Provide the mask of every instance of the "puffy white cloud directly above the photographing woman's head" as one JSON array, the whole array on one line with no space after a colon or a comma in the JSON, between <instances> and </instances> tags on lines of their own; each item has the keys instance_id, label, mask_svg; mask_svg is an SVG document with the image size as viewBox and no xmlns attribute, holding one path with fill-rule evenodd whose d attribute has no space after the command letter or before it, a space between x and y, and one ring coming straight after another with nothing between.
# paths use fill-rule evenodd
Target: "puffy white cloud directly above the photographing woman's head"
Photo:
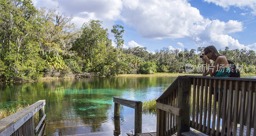
<instances>
[{"instance_id":1,"label":"puffy white cloud directly above the photographing woman's head","mask_svg":"<svg viewBox=\"0 0 256 136\"><path fill-rule=\"evenodd\" d=\"M220 20L205 19L195 24L191 29L189 39L197 45L215 45L217 48L223 49L228 46L230 49L242 49L245 46L240 44L237 39L228 36L230 33L240 32L243 30L242 22L237 20L229 20L223 22Z\"/></svg>"}]
</instances>

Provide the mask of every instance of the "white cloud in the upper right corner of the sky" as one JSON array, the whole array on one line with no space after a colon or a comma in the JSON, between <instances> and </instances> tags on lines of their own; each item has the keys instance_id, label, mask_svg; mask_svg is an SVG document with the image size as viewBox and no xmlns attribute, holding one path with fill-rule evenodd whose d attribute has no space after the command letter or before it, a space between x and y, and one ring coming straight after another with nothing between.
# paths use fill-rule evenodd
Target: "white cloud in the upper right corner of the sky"
<instances>
[{"instance_id":1,"label":"white cloud in the upper right corner of the sky","mask_svg":"<svg viewBox=\"0 0 256 136\"><path fill-rule=\"evenodd\" d=\"M218 6L228 10L230 6L239 7L244 10L250 9L253 15L256 15L256 1L255 0L204 0L208 3L214 3Z\"/></svg>"}]
</instances>

